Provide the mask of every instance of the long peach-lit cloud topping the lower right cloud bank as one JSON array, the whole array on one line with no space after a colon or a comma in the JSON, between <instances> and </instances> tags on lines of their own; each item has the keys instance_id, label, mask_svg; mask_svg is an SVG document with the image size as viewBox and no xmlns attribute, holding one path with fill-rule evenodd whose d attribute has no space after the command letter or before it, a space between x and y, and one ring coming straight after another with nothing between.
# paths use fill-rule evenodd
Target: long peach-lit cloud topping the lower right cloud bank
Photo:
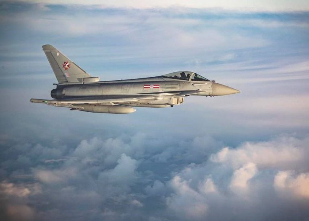
<instances>
[{"instance_id":1,"label":"long peach-lit cloud topping the lower right cloud bank","mask_svg":"<svg viewBox=\"0 0 309 221\"><path fill-rule=\"evenodd\" d=\"M213 162L231 165L233 168L253 163L258 168L301 169L308 154L307 139L281 136L267 142L246 142L238 148L226 147L213 154L210 159Z\"/></svg>"}]
</instances>

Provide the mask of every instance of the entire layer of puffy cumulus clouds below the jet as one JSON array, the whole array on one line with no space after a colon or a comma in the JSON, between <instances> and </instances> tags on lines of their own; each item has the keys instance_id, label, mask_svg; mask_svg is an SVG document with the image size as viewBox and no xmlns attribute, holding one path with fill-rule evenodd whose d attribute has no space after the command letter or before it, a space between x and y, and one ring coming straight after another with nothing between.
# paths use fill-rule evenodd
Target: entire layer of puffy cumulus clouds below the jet
<instances>
[{"instance_id":1,"label":"entire layer of puffy cumulus clouds below the jet","mask_svg":"<svg viewBox=\"0 0 309 221\"><path fill-rule=\"evenodd\" d=\"M9 220L304 219L308 139L233 148L209 136L168 143L137 133L60 152L15 144L1 163L1 211Z\"/></svg>"}]
</instances>

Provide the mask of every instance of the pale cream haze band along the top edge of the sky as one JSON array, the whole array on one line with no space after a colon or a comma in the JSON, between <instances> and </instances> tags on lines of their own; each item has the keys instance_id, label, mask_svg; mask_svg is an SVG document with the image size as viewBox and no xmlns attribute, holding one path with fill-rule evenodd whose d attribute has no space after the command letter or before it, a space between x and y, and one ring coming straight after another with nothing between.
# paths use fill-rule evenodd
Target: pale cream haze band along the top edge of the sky
<instances>
[{"instance_id":1,"label":"pale cream haze band along the top edge of the sky","mask_svg":"<svg viewBox=\"0 0 309 221\"><path fill-rule=\"evenodd\" d=\"M29 3L45 3L45 4L59 4L63 5L63 1L59 0L21 0L20 2ZM306 0L295 0L291 4L288 0L276 0L276 1L246 1L246 0L234 0L234 1L202 1L202 0L173 0L173 1L138 1L138 0L114 0L114 1L99 1L99 0L68 0L65 4L80 4L80 5L95 5L102 8L168 8L168 7L186 7L186 8L208 8L208 9L224 9L224 10L246 10L246 11L304 11L309 9L308 2Z\"/></svg>"}]
</instances>

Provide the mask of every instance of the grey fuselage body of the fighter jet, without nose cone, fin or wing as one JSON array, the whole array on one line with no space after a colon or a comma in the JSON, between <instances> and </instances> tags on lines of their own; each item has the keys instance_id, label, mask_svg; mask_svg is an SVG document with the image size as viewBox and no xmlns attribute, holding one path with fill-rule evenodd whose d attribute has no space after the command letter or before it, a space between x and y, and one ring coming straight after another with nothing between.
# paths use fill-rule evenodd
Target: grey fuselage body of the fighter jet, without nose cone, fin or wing
<instances>
[{"instance_id":1,"label":"grey fuselage body of the fighter jet, without nose cone, fin or wing","mask_svg":"<svg viewBox=\"0 0 309 221\"><path fill-rule=\"evenodd\" d=\"M57 88L51 91L52 98L94 98L96 96L111 95L155 95L162 99L153 101L126 102L130 106L142 106L143 104L159 104L164 106L177 105L183 102L183 98L174 98L182 91L201 90L202 93L196 95L218 96L213 94L212 85L214 81L188 81L171 79L163 76L147 77L117 81L97 81L92 83L71 83L57 84ZM145 88L144 85L159 85L159 88ZM154 106L155 107L155 106ZM159 107L159 106L158 106Z\"/></svg>"}]
</instances>

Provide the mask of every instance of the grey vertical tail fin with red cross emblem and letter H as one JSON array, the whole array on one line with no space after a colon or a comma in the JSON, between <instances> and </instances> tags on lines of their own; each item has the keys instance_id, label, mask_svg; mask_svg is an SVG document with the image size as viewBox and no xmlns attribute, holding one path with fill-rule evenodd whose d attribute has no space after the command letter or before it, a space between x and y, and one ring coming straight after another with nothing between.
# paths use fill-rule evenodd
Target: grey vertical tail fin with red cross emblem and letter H
<instances>
[{"instance_id":1,"label":"grey vertical tail fin with red cross emblem and letter H","mask_svg":"<svg viewBox=\"0 0 309 221\"><path fill-rule=\"evenodd\" d=\"M78 82L78 78L91 77L52 45L45 44L42 48L59 83Z\"/></svg>"}]
</instances>

